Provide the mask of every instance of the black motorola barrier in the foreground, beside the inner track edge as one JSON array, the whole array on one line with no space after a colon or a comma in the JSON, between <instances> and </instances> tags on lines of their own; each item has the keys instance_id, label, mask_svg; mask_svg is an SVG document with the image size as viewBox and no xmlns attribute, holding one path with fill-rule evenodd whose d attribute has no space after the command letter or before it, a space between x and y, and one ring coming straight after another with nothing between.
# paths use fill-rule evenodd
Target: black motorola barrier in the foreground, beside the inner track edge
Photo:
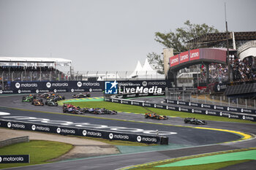
<instances>
[{"instance_id":1,"label":"black motorola barrier in the foreground, beside the inner track edge","mask_svg":"<svg viewBox=\"0 0 256 170\"><path fill-rule=\"evenodd\" d=\"M59 125L45 125L39 123L26 123L22 121L0 120L0 127L20 129L25 131L40 131L51 134L87 136L109 140L140 142L146 144L168 144L166 136L150 136L141 134L125 134L113 131L98 131L90 128L73 128Z\"/></svg>"}]
</instances>

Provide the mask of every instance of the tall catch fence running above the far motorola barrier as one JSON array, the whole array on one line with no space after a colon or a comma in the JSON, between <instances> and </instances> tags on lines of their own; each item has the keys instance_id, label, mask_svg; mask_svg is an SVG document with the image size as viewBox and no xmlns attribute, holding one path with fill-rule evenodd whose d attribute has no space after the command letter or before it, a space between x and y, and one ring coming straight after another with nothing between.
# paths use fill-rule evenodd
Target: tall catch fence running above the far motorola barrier
<instances>
[{"instance_id":1,"label":"tall catch fence running above the far motorola barrier","mask_svg":"<svg viewBox=\"0 0 256 170\"><path fill-rule=\"evenodd\" d=\"M154 72L14 72L0 71L0 90L8 89L14 81L111 81L111 80L165 80L164 74ZM131 74L133 76L131 76Z\"/></svg>"}]
</instances>

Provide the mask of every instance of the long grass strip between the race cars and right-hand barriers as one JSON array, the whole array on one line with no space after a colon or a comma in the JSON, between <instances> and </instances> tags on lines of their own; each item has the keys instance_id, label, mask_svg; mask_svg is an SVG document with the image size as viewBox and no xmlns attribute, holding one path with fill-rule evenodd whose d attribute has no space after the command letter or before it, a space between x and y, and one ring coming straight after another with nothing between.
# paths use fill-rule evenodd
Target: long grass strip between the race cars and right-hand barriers
<instances>
[{"instance_id":1,"label":"long grass strip between the race cars and right-hand barriers","mask_svg":"<svg viewBox=\"0 0 256 170\"><path fill-rule=\"evenodd\" d=\"M193 114L189 112L177 112L166 109L157 109L151 107L138 107L132 106L128 104L116 104L107 101L86 101L86 102L70 102L69 104L73 104L79 107L105 107L106 109L113 109L118 112L135 112L135 113L146 113L147 109L150 109L152 112L156 112L159 115L167 115L174 117L195 117L197 119L203 120L214 120L214 121L223 121L223 122L235 122L235 123L255 123L249 120L237 120L237 119L229 119L227 117L219 117L219 116L211 116L211 115L200 115ZM145 109L146 108L146 109ZM256 124L256 123L255 123Z\"/></svg>"}]
</instances>

